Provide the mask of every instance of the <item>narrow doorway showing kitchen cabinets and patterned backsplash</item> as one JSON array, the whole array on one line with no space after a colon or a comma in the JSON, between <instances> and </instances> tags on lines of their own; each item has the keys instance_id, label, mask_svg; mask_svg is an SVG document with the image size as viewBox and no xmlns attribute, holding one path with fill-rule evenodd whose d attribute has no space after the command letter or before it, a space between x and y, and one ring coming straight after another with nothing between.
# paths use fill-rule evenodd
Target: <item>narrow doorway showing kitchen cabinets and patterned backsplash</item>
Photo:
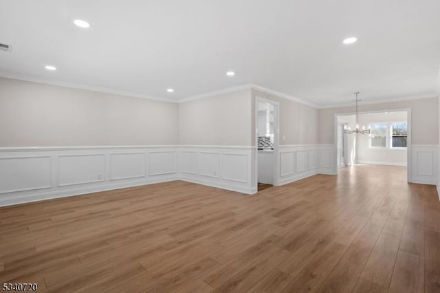
<instances>
[{"instance_id":1,"label":"narrow doorway showing kitchen cabinets and patterned backsplash","mask_svg":"<svg viewBox=\"0 0 440 293\"><path fill-rule=\"evenodd\" d=\"M258 190L278 185L278 102L256 98L256 174Z\"/></svg>"}]
</instances>

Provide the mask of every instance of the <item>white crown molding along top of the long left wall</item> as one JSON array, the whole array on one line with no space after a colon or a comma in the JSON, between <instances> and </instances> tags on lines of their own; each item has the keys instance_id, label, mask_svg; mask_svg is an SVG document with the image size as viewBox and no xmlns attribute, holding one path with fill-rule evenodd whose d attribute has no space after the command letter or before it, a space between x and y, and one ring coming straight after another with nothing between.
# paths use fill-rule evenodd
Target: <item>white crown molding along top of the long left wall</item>
<instances>
[{"instance_id":1,"label":"white crown molding along top of the long left wall","mask_svg":"<svg viewBox=\"0 0 440 293\"><path fill-rule=\"evenodd\" d=\"M71 89L84 89L87 91L96 91L96 92L105 93L105 94L126 96L129 98L143 98L146 100L155 100L155 101L159 101L159 102L177 102L177 100L172 100L169 98L159 98L159 97L148 96L148 95L144 95L144 94L136 94L136 93L133 93L130 91L120 91L120 90L116 90L116 89L109 89L106 87L92 87L89 85L80 85L77 83L68 83L65 81L51 80L49 78L36 78L36 77L25 76L25 75L21 75L21 74L11 74L9 72L0 72L0 77L30 81L32 83L43 83L45 85L55 85L58 87L68 87Z\"/></svg>"}]
</instances>

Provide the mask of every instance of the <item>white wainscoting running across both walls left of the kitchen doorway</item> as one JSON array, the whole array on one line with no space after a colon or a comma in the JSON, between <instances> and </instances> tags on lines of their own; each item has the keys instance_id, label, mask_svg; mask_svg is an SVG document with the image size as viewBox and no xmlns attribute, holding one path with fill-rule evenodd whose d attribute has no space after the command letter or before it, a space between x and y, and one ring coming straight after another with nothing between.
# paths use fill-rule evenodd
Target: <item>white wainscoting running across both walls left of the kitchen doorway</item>
<instances>
[{"instance_id":1,"label":"white wainscoting running across both walls left of the kitchen doorway","mask_svg":"<svg viewBox=\"0 0 440 293\"><path fill-rule=\"evenodd\" d=\"M0 206L173 180L252 194L255 150L188 145L1 148Z\"/></svg>"}]
</instances>

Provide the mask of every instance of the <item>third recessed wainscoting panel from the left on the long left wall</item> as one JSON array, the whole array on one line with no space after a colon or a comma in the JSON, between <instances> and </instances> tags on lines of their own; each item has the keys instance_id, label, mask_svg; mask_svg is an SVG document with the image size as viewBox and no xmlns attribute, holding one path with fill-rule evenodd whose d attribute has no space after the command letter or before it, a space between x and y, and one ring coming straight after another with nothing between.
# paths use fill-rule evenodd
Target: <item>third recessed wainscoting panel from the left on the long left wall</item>
<instances>
[{"instance_id":1,"label":"third recessed wainscoting panel from the left on the long left wall","mask_svg":"<svg viewBox=\"0 0 440 293\"><path fill-rule=\"evenodd\" d=\"M111 153L110 180L145 177L145 153Z\"/></svg>"}]
</instances>

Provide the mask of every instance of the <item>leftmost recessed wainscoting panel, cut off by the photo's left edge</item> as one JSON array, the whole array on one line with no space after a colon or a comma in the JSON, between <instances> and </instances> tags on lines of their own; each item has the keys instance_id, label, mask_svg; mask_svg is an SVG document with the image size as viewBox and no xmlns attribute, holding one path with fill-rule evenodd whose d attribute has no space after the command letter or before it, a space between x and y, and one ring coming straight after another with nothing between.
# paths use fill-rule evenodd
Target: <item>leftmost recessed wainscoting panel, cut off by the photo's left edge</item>
<instances>
[{"instance_id":1,"label":"leftmost recessed wainscoting panel, cut off by the photo's left edge","mask_svg":"<svg viewBox=\"0 0 440 293\"><path fill-rule=\"evenodd\" d=\"M51 186L50 156L0 158L0 193L33 191Z\"/></svg>"}]
</instances>

